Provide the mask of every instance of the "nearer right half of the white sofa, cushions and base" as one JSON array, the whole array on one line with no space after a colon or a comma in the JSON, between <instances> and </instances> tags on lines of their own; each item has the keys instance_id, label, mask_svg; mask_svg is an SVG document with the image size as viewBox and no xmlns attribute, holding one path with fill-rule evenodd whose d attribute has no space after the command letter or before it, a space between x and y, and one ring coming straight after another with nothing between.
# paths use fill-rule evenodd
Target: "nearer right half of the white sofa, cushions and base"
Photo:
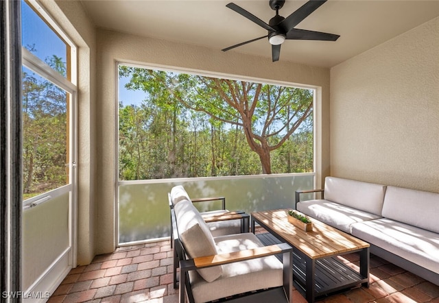
<instances>
[{"instance_id":1,"label":"nearer right half of the white sofa, cushions and base","mask_svg":"<svg viewBox=\"0 0 439 303\"><path fill-rule=\"evenodd\" d=\"M371 252L439 285L439 193L388 186L383 219L356 223L352 234Z\"/></svg>"}]
</instances>

